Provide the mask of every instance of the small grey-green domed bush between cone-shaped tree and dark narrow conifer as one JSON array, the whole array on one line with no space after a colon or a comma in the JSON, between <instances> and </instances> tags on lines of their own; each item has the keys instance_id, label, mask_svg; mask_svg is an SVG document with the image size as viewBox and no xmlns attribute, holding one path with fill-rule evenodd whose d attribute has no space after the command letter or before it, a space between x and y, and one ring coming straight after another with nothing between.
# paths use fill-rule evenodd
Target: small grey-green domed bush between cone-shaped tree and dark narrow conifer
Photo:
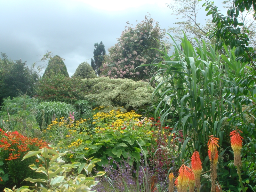
<instances>
[{"instance_id":1,"label":"small grey-green domed bush between cone-shaped tree and dark narrow conifer","mask_svg":"<svg viewBox=\"0 0 256 192\"><path fill-rule=\"evenodd\" d=\"M76 68L75 73L72 75L73 77L80 77L82 79L89 79L89 78L95 78L97 77L95 74L94 69L90 66L87 62L82 62L78 67Z\"/></svg>"}]
</instances>

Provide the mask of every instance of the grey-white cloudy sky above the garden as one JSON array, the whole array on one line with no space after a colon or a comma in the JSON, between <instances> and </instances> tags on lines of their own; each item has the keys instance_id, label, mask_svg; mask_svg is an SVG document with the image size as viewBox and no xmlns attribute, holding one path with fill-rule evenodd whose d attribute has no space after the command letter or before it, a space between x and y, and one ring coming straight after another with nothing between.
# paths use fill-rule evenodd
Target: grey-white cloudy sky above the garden
<instances>
[{"instance_id":1,"label":"grey-white cloudy sky above the garden","mask_svg":"<svg viewBox=\"0 0 256 192\"><path fill-rule=\"evenodd\" d=\"M0 52L31 66L51 51L71 76L91 62L94 43L106 51L116 44L127 21L135 26L149 12L161 28L171 27L175 16L166 3L172 0L0 0Z\"/></svg>"}]
</instances>

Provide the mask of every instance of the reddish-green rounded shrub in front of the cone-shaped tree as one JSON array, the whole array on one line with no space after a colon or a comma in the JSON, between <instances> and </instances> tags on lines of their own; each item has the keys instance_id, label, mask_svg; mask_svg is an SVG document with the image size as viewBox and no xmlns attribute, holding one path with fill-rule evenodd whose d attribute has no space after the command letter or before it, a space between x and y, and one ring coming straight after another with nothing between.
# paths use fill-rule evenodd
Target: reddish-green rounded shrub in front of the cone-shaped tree
<instances>
[{"instance_id":1,"label":"reddish-green rounded shrub in front of the cone-shaped tree","mask_svg":"<svg viewBox=\"0 0 256 192\"><path fill-rule=\"evenodd\" d=\"M75 103L79 97L83 99L86 90L86 84L81 82L80 78L57 74L51 77L45 76L40 80L37 97L41 100Z\"/></svg>"}]
</instances>

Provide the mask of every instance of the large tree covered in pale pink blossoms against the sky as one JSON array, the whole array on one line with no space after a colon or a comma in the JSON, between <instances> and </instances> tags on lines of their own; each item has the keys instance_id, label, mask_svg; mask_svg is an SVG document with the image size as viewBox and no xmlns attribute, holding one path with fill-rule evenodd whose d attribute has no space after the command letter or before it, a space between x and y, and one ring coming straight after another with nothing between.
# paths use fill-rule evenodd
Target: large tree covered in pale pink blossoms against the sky
<instances>
[{"instance_id":1,"label":"large tree covered in pale pink blossoms against the sky","mask_svg":"<svg viewBox=\"0 0 256 192\"><path fill-rule=\"evenodd\" d=\"M129 22L125 28L118 38L118 43L108 49L109 53L100 69L101 76L148 81L152 67L137 68L135 71L134 69L154 60L159 62L159 52L151 48L161 49L163 45L167 49L170 48L170 44L164 39L165 30L160 29L158 22L149 16L145 16L145 20L135 28L132 28Z\"/></svg>"}]
</instances>

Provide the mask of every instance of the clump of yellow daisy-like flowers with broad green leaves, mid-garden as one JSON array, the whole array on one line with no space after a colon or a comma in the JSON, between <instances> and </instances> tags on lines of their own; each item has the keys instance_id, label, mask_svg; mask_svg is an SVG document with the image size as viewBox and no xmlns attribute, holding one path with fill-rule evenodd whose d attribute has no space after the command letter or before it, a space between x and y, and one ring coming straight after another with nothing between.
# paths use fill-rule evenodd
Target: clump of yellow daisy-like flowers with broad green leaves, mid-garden
<instances>
[{"instance_id":1,"label":"clump of yellow daisy-like flowers with broad green leaves, mid-garden","mask_svg":"<svg viewBox=\"0 0 256 192\"><path fill-rule=\"evenodd\" d=\"M93 119L80 119L71 124L64 118L61 122L53 121L45 129L44 137L53 143L61 140L63 149L65 146L65 150L73 151L69 154L71 161L94 156L101 159L97 164L103 167L108 163L108 157L117 162L129 158L132 165L134 160L140 159L137 141L145 152L148 151L153 130L151 120L145 118L140 121L140 115L134 111L103 113L103 108L94 109L99 112L93 115Z\"/></svg>"}]
</instances>

